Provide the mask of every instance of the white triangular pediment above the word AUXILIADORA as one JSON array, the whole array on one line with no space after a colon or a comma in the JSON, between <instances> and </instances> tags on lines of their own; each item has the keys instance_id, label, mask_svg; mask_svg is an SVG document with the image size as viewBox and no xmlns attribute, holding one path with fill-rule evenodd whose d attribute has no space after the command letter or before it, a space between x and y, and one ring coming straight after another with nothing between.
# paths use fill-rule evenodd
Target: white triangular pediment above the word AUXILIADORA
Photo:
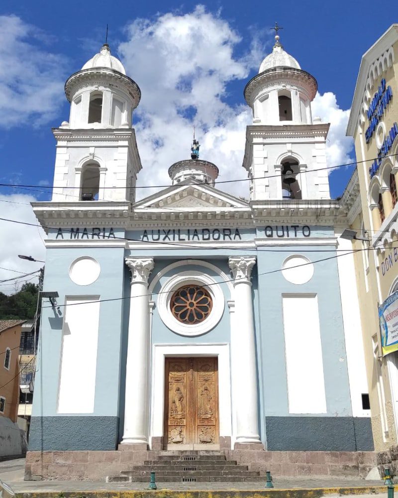
<instances>
[{"instance_id":1,"label":"white triangular pediment above the word AUXILIADORA","mask_svg":"<svg viewBox=\"0 0 398 498\"><path fill-rule=\"evenodd\" d=\"M191 183L168 187L137 202L134 209L247 209L249 202L213 187Z\"/></svg>"}]
</instances>

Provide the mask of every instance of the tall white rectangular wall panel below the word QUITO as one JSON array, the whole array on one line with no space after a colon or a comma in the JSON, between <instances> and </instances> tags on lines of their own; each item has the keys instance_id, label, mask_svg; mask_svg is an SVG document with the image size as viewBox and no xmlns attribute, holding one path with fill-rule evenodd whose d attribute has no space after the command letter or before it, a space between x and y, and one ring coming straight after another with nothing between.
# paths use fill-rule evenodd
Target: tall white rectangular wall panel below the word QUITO
<instances>
[{"instance_id":1,"label":"tall white rectangular wall panel below the word QUITO","mask_svg":"<svg viewBox=\"0 0 398 498\"><path fill-rule=\"evenodd\" d=\"M326 413L316 295L283 296L289 413Z\"/></svg>"}]
</instances>

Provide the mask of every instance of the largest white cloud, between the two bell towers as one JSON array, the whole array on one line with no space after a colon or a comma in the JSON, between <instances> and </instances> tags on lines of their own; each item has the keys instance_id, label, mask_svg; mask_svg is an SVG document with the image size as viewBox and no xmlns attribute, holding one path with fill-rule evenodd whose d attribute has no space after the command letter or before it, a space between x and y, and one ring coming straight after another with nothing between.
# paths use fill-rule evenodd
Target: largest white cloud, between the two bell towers
<instances>
[{"instance_id":1,"label":"largest white cloud, between the two bell towers","mask_svg":"<svg viewBox=\"0 0 398 498\"><path fill-rule=\"evenodd\" d=\"M200 158L214 162L219 181L246 178L241 167L245 128L251 111L229 105L227 84L248 79L261 60L259 43L242 57L234 54L241 37L218 15L197 6L193 12L138 19L121 43L127 74L142 89L135 124L143 170L138 185L170 185L167 170L190 157L193 125L201 144ZM243 98L242 98L243 100ZM237 195L249 195L248 182L220 184ZM138 190L137 198L148 195Z\"/></svg>"}]
</instances>

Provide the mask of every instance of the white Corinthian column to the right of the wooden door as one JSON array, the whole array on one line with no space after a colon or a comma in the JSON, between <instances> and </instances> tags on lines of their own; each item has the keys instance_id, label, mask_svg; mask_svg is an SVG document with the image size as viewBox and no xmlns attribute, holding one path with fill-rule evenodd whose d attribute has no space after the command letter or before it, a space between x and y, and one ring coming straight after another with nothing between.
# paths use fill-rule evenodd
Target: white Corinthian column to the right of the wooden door
<instances>
[{"instance_id":1,"label":"white Corinthian column to the right of the wooden door","mask_svg":"<svg viewBox=\"0 0 398 498\"><path fill-rule=\"evenodd\" d=\"M236 416L236 443L260 443L257 410L257 372L254 340L251 272L254 256L228 259L235 293L231 327L232 383Z\"/></svg>"}]
</instances>

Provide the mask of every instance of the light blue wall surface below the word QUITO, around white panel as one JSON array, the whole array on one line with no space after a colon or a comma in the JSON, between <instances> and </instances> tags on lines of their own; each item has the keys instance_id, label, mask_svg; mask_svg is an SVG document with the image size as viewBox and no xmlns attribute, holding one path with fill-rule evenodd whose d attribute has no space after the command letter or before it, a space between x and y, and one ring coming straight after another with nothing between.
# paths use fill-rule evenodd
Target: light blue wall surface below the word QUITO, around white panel
<instances>
[{"instance_id":1,"label":"light blue wall surface below the word QUITO, around white panel","mask_svg":"<svg viewBox=\"0 0 398 498\"><path fill-rule=\"evenodd\" d=\"M289 413L283 330L282 294L315 293L318 298L320 335L323 354L327 413L316 416L349 416L352 414L345 352L339 277L334 246L284 247L286 252L262 248L257 254L258 288L261 296L259 314L261 333L257 332L262 358L264 383L261 400L263 416L295 416ZM282 248L279 248L282 249ZM315 251L315 252L311 252ZM314 261L314 274L309 282L295 285L281 271L264 274L282 267L290 254L302 254ZM318 261L325 258L324 261ZM344 361L340 361L343 358ZM316 396L316 393L314 393ZM311 416L311 414L308 414Z\"/></svg>"}]
</instances>

